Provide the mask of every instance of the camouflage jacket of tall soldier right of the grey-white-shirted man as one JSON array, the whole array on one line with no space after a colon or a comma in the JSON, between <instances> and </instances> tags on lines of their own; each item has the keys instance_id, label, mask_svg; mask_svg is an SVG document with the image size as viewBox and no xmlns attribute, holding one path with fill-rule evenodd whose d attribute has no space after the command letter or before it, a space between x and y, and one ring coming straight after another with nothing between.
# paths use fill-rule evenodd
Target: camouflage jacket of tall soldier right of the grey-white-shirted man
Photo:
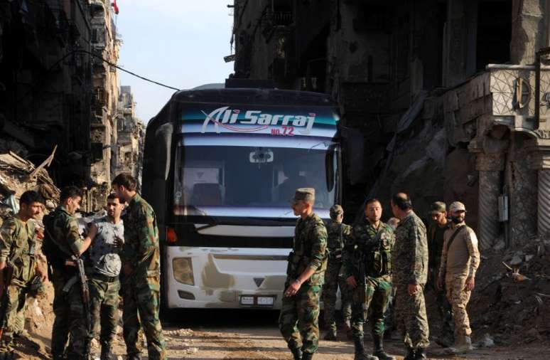
<instances>
[{"instance_id":1,"label":"camouflage jacket of tall soldier right of the grey-white-shirted man","mask_svg":"<svg viewBox=\"0 0 550 360\"><path fill-rule=\"evenodd\" d=\"M120 253L122 265L129 264L141 277L161 273L161 250L155 211L139 194L130 201L124 221L124 246Z\"/></svg>"}]
</instances>

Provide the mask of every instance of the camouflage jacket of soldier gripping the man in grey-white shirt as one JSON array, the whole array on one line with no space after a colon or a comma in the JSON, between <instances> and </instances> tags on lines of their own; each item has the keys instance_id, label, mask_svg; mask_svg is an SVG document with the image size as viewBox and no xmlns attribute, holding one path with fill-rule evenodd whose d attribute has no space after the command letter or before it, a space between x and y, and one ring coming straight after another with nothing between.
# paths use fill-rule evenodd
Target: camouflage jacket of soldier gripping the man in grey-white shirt
<instances>
[{"instance_id":1,"label":"camouflage jacket of soldier gripping the man in grey-white shirt","mask_svg":"<svg viewBox=\"0 0 550 360\"><path fill-rule=\"evenodd\" d=\"M83 246L82 236L74 216L64 206L58 206L43 218L44 240L42 250L48 263L54 267L65 265L65 260L77 255ZM61 250L61 251L60 251Z\"/></svg>"}]
</instances>

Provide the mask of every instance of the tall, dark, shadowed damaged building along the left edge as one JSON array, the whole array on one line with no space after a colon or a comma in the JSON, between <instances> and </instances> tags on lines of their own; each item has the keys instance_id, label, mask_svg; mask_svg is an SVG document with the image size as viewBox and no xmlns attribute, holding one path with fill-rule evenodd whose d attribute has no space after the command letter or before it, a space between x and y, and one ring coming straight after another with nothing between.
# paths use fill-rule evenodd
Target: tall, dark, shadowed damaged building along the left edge
<instances>
[{"instance_id":1,"label":"tall, dark, shadowed damaged building along the left edge","mask_svg":"<svg viewBox=\"0 0 550 360\"><path fill-rule=\"evenodd\" d=\"M0 152L58 186L109 183L117 144L120 40L108 0L0 3Z\"/></svg>"}]
</instances>

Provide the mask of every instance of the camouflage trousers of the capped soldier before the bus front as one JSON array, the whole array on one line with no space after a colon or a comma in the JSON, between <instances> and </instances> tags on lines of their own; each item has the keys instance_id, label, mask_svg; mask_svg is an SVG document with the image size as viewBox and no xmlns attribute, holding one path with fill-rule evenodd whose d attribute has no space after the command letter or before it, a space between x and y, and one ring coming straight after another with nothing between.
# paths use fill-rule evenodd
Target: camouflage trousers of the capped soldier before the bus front
<instances>
[{"instance_id":1,"label":"camouflage trousers of the capped soldier before the bus front","mask_svg":"<svg viewBox=\"0 0 550 360\"><path fill-rule=\"evenodd\" d=\"M296 295L283 297L279 329L289 349L313 354L319 346L320 286L303 284Z\"/></svg>"}]
</instances>

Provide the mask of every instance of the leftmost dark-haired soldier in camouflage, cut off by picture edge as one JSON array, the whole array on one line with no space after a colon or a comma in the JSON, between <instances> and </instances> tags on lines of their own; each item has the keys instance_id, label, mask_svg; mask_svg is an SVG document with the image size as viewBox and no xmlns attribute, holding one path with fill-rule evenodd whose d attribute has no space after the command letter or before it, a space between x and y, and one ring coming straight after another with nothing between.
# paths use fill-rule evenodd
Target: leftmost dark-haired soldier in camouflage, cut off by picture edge
<instances>
[{"instance_id":1,"label":"leftmost dark-haired soldier in camouflage, cut off by picture edge","mask_svg":"<svg viewBox=\"0 0 550 360\"><path fill-rule=\"evenodd\" d=\"M47 272L35 258L35 226L42 213L44 199L36 191L25 191L19 200L19 211L8 216L0 228L0 298L7 296L4 312L4 329L0 341L0 359L12 359L14 334L22 329L18 320L23 317L26 299L33 280L48 279ZM6 278L10 268L11 279ZM6 282L9 282L6 284ZM7 285L7 294L4 294Z\"/></svg>"}]
</instances>

